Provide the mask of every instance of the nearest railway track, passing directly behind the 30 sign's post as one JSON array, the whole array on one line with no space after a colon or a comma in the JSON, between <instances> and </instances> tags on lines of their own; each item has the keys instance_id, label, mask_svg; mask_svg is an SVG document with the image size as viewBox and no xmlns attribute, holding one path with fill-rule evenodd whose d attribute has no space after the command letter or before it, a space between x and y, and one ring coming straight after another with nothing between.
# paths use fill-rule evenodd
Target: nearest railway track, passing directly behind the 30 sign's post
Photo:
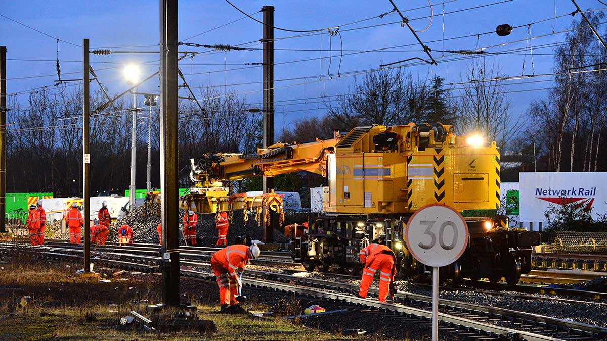
<instances>
[{"instance_id":1,"label":"nearest railway track, passing directly behind the 30 sign's post","mask_svg":"<svg viewBox=\"0 0 607 341\"><path fill-rule=\"evenodd\" d=\"M23 251L38 252L48 258L82 257L81 248L66 246L68 245L32 247L1 243L0 252L11 252L18 247ZM148 255L146 253L149 251L141 250L140 246L123 246L117 250L120 252L115 252L115 249L114 246L109 246L104 251L93 252L92 257L97 262L121 268L158 271L160 257L157 252L156 255ZM202 262L202 259L186 258L184 251L182 250L184 258L180 261L181 273L190 277L211 279L209 264ZM396 296L401 300L401 304L381 303L352 295L352 292L358 291L358 286L347 283L267 271L247 270L246 274L247 278L243 279L243 283L262 291L279 290L307 297L320 297L350 309L374 308L374 314L382 314L403 322L427 323L432 314L430 297L424 295L398 292ZM377 289L372 288L370 292L376 293ZM441 329L458 331L458 336L470 336L475 340L607 340L607 328L598 326L451 300L440 300L439 304L443 312L439 316Z\"/></svg>"}]
</instances>

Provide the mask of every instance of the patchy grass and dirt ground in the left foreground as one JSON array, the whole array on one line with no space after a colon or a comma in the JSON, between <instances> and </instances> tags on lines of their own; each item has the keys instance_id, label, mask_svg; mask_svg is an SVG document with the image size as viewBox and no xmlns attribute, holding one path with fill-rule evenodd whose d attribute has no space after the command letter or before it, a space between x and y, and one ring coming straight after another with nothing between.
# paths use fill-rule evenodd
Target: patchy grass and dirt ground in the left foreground
<instances>
[{"instance_id":1,"label":"patchy grass and dirt ground in the left foreground","mask_svg":"<svg viewBox=\"0 0 607 341\"><path fill-rule=\"evenodd\" d=\"M121 326L119 321L131 310L144 313L146 305L159 302L158 274L127 271L112 278L115 269L101 268L96 270L107 275L109 283L80 282L74 275L78 268L79 264L37 261L25 255L0 258L0 341L362 339L307 328L280 316L219 314L214 282L194 279L181 281L183 300L196 305L203 319L213 320L217 332L145 333L134 323ZM268 305L251 300L246 308L266 311Z\"/></svg>"}]
</instances>

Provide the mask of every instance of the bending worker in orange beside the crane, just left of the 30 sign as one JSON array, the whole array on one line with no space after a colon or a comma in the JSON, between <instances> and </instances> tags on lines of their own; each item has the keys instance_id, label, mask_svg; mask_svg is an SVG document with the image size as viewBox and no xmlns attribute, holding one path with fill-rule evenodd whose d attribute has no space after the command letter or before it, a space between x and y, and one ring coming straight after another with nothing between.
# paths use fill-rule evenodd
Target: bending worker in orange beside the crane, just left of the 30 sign
<instances>
[{"instance_id":1,"label":"bending worker in orange beside the crane, just left of the 30 sign","mask_svg":"<svg viewBox=\"0 0 607 341\"><path fill-rule=\"evenodd\" d=\"M359 257L365 267L362 270L361 288L358 295L363 299L367 298L373 276L379 270L379 302L385 302L396 275L396 255L388 246L370 244L361 250Z\"/></svg>"}]
</instances>

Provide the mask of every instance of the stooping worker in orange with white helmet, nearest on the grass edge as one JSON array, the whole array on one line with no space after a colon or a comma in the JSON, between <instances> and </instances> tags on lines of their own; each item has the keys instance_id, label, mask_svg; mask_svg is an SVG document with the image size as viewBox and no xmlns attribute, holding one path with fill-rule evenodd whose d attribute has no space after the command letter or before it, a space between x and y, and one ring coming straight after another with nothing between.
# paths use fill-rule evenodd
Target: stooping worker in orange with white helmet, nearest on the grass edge
<instances>
[{"instance_id":1,"label":"stooping worker in orange with white helmet, nearest on the grass edge","mask_svg":"<svg viewBox=\"0 0 607 341\"><path fill-rule=\"evenodd\" d=\"M256 244L251 246L237 244L215 252L211 258L211 268L217 277L222 312L238 311L239 302L236 300L236 296L239 294L242 283L240 283L237 271L243 272L249 260L259 257L259 254L259 246Z\"/></svg>"}]
</instances>

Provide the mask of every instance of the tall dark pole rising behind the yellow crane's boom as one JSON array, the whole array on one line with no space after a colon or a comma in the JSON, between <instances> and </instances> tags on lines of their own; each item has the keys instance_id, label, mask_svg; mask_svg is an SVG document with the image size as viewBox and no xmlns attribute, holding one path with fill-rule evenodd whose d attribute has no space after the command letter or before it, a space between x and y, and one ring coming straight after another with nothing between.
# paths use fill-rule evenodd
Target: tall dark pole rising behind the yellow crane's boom
<instances>
[{"instance_id":1,"label":"tall dark pole rising behind the yellow crane's boom","mask_svg":"<svg viewBox=\"0 0 607 341\"><path fill-rule=\"evenodd\" d=\"M274 144L274 6L263 6L263 147ZM274 178L263 177L263 193L274 192ZM270 208L266 208L270 209ZM276 215L263 225L263 242L274 241Z\"/></svg>"}]
</instances>

